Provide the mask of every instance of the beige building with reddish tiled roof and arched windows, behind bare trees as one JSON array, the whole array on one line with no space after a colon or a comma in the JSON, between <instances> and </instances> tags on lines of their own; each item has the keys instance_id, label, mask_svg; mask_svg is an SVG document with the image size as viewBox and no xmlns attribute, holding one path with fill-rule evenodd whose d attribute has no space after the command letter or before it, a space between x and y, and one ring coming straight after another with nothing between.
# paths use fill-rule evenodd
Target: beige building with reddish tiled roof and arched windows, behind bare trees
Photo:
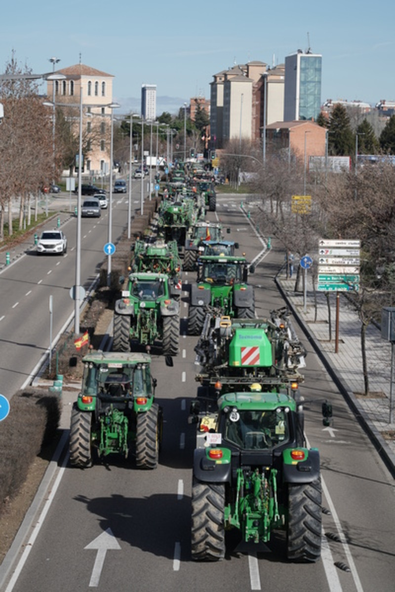
<instances>
[{"instance_id":1,"label":"beige building with reddish tiled roof and arched windows, behind bare trees","mask_svg":"<svg viewBox=\"0 0 395 592\"><path fill-rule=\"evenodd\" d=\"M79 104L82 92L82 144L84 175L104 176L110 172L110 117L113 102L111 74L76 64L56 70L65 79L47 81L47 96L57 106L64 105L66 120L79 135ZM56 144L56 139L55 139Z\"/></svg>"}]
</instances>

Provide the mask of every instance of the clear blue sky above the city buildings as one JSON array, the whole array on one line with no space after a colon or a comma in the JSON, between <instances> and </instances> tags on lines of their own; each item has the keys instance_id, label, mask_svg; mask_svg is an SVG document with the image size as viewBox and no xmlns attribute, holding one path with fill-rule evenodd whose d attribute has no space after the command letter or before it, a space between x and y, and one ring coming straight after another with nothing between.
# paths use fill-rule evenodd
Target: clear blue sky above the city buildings
<instances>
[{"instance_id":1,"label":"clear blue sky above the city buildings","mask_svg":"<svg viewBox=\"0 0 395 592\"><path fill-rule=\"evenodd\" d=\"M140 111L157 85L158 114L210 98L213 74L249 60L269 65L306 50L323 56L322 102L395 100L395 2L40 0L2 3L0 72L12 50L35 73L79 62L115 76L114 100Z\"/></svg>"}]
</instances>

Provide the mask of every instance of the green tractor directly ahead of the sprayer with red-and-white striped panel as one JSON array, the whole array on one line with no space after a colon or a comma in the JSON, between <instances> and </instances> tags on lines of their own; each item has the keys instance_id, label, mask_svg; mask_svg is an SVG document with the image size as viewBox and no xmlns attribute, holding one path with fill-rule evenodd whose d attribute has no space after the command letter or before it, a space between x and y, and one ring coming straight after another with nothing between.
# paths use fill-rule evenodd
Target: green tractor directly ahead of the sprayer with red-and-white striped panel
<instances>
[{"instance_id":1,"label":"green tractor directly ahead of the sprayer with red-and-white striped panel","mask_svg":"<svg viewBox=\"0 0 395 592\"><path fill-rule=\"evenodd\" d=\"M207 313L254 318L253 287L247 284L254 271L244 257L201 256L197 284L191 285L188 332L200 335Z\"/></svg>"}]
</instances>

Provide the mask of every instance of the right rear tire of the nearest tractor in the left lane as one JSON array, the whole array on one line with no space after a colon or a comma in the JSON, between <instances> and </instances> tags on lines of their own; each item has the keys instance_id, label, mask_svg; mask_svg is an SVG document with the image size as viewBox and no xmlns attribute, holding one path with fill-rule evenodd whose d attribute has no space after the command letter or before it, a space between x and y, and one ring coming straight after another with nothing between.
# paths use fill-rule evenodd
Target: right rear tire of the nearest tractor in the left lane
<instances>
[{"instance_id":1,"label":"right rear tire of the nearest tractor in the left lane","mask_svg":"<svg viewBox=\"0 0 395 592\"><path fill-rule=\"evenodd\" d=\"M148 411L137 414L136 465L140 469L156 469L162 436L162 414L153 403Z\"/></svg>"}]
</instances>

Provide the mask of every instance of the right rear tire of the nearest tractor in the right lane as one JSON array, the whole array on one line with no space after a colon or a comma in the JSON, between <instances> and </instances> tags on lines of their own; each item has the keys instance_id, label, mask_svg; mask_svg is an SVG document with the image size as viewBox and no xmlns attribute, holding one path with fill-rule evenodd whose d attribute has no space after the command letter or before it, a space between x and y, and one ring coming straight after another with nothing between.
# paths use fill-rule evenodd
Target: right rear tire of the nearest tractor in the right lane
<instances>
[{"instance_id":1,"label":"right rear tire of the nearest tractor in the right lane","mask_svg":"<svg viewBox=\"0 0 395 592\"><path fill-rule=\"evenodd\" d=\"M317 561L321 555L321 479L288 485L287 556L291 561Z\"/></svg>"}]
</instances>

